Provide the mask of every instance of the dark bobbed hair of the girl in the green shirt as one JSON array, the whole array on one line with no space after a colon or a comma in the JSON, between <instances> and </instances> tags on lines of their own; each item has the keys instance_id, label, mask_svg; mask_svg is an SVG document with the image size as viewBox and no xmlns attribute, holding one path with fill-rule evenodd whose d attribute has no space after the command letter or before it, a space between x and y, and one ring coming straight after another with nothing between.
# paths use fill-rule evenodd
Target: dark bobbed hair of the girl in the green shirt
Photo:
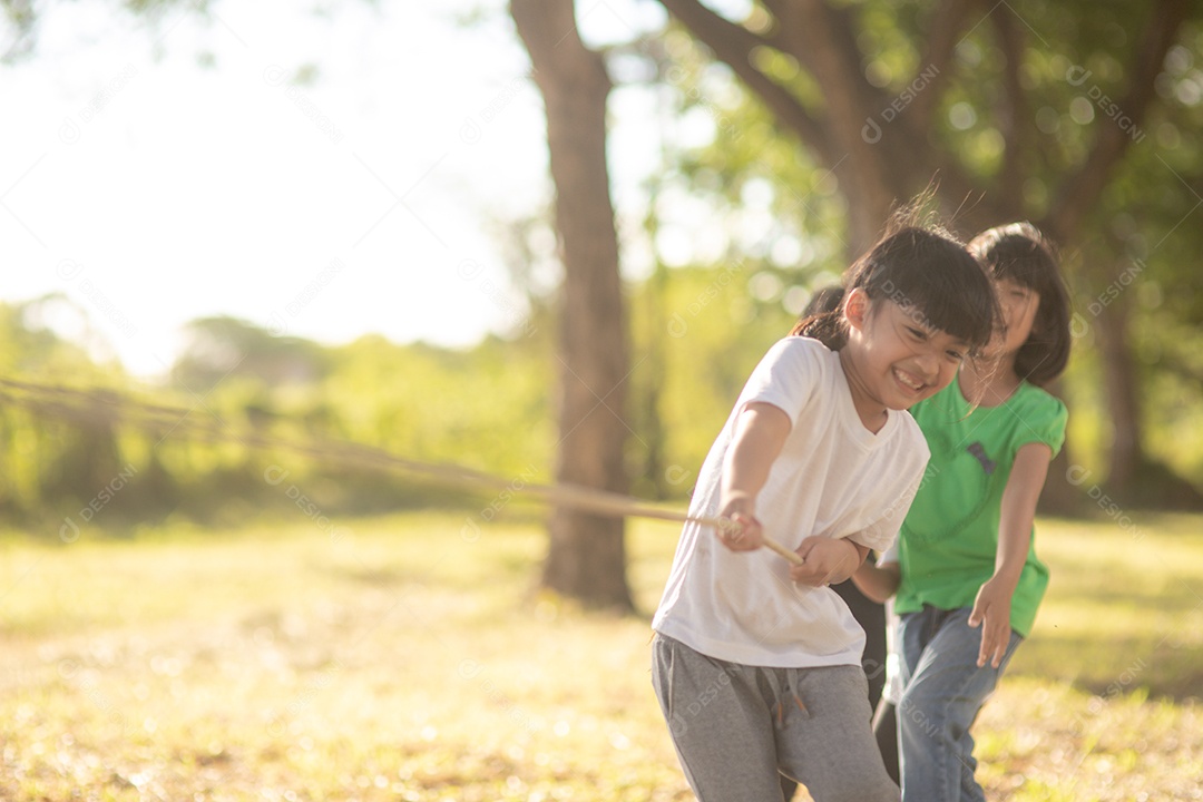
<instances>
[{"instance_id":1,"label":"dark bobbed hair of the girl in the green shirt","mask_svg":"<svg viewBox=\"0 0 1203 802\"><path fill-rule=\"evenodd\" d=\"M1053 244L1030 222L1012 222L983 231L970 242L970 253L995 279L1009 279L1039 296L1032 333L1015 354L1015 373L1033 385L1045 385L1069 362L1069 291Z\"/></svg>"}]
</instances>

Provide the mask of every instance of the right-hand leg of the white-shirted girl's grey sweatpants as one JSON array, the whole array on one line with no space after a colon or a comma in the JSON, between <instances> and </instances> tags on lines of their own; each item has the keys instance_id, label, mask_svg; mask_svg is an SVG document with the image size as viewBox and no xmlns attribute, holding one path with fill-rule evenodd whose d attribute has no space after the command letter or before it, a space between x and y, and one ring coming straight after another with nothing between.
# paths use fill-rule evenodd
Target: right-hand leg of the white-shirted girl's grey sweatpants
<instances>
[{"instance_id":1,"label":"right-hand leg of the white-shirted girl's grey sweatpants","mask_svg":"<svg viewBox=\"0 0 1203 802\"><path fill-rule=\"evenodd\" d=\"M783 772L801 780L816 802L897 802L870 727L860 666L765 671L778 672L782 685L776 735Z\"/></svg>"}]
</instances>

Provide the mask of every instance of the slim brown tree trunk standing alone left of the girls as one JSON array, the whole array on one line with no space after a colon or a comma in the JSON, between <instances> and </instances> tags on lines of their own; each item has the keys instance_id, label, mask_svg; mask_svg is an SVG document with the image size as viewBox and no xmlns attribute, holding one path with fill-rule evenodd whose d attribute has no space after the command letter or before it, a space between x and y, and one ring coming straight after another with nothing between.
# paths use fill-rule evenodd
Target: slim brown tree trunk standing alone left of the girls
<instances>
[{"instance_id":1,"label":"slim brown tree trunk standing alone left of the girls","mask_svg":"<svg viewBox=\"0 0 1203 802\"><path fill-rule=\"evenodd\" d=\"M557 482L624 493L627 344L618 243L606 168L610 78L576 32L571 0L512 0L547 114L559 310ZM556 507L543 584L593 607L630 610L624 522Z\"/></svg>"}]
</instances>

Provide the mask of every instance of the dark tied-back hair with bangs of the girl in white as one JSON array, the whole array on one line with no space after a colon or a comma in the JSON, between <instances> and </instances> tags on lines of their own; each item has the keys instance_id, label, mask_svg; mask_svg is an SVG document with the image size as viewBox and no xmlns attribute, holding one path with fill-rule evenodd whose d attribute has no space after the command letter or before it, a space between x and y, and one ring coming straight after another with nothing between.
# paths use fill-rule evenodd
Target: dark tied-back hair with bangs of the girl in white
<instances>
[{"instance_id":1,"label":"dark tied-back hair with bangs of the girl in white","mask_svg":"<svg viewBox=\"0 0 1203 802\"><path fill-rule=\"evenodd\" d=\"M861 289L870 301L893 301L928 328L965 340L982 351L1001 320L994 285L960 242L935 227L903 225L858 259L845 278L845 292ZM830 299L828 299L830 303ZM838 308L804 317L790 334L822 340L832 351L848 341Z\"/></svg>"}]
</instances>

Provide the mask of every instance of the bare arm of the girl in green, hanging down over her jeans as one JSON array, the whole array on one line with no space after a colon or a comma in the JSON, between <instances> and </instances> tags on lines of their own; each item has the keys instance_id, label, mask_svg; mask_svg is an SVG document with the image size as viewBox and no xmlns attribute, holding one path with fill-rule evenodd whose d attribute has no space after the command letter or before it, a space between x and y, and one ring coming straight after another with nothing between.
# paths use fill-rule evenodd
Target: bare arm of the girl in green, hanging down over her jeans
<instances>
[{"instance_id":1,"label":"bare arm of the girl in green, hanging down over her jeans","mask_svg":"<svg viewBox=\"0 0 1203 802\"><path fill-rule=\"evenodd\" d=\"M1036 501L1044 487L1053 448L1043 442L1020 446L1015 462L1002 492L1002 511L998 519L998 551L994 576L978 590L970 613L970 626L982 626L982 650L978 666L986 661L995 669L1011 641L1011 598L1019 584L1019 575L1027 562L1027 548L1032 539L1032 521L1036 518Z\"/></svg>"}]
</instances>

